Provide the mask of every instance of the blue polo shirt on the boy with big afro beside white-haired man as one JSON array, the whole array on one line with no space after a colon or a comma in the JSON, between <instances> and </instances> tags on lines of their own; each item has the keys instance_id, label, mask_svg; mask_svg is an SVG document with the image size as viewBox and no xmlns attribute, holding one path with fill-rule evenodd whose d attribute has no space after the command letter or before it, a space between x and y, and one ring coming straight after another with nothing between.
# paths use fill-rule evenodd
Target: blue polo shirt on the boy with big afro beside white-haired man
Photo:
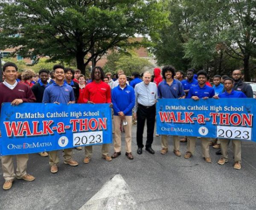
<instances>
[{"instance_id":1,"label":"blue polo shirt on the boy with big afro beside white-haired man","mask_svg":"<svg viewBox=\"0 0 256 210\"><path fill-rule=\"evenodd\" d=\"M185 94L180 81L173 80L172 84L167 84L166 80L159 83L157 87L158 98L180 98Z\"/></svg>"}]
</instances>

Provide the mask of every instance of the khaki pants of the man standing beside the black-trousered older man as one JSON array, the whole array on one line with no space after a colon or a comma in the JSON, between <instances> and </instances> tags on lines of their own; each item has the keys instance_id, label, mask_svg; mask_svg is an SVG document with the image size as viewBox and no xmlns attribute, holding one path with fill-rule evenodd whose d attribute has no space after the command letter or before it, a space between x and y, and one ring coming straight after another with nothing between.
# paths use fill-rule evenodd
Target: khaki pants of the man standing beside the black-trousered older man
<instances>
[{"instance_id":1,"label":"khaki pants of the man standing beside the black-trousered older man","mask_svg":"<svg viewBox=\"0 0 256 210\"><path fill-rule=\"evenodd\" d=\"M125 130L125 150L126 152L131 152L131 127L132 127L132 117L125 116L127 125L124 126ZM115 152L121 151L121 131L120 131L121 118L119 116L114 116L115 125L115 138L114 138L114 150Z\"/></svg>"}]
</instances>

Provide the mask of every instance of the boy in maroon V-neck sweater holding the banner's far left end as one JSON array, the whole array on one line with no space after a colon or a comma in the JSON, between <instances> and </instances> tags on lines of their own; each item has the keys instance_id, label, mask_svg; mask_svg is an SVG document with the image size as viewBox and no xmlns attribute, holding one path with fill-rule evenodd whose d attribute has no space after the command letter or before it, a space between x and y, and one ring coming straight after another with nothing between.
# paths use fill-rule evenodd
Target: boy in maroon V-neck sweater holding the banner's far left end
<instances>
[{"instance_id":1,"label":"boy in maroon V-neck sweater holding the banner's far left end","mask_svg":"<svg viewBox=\"0 0 256 210\"><path fill-rule=\"evenodd\" d=\"M15 63L7 62L3 65L3 75L5 81L0 83L0 113L1 105L4 102L11 102L12 105L19 105L22 103L35 102L35 96L26 84L16 81L18 68ZM15 179L23 179L25 181L33 181L35 177L26 173L27 161L29 155L16 155L17 158L17 169L16 175L14 172L13 164L14 155L2 156L2 168L3 178L5 183L3 184L4 190L9 190L12 187L12 182Z\"/></svg>"}]
</instances>

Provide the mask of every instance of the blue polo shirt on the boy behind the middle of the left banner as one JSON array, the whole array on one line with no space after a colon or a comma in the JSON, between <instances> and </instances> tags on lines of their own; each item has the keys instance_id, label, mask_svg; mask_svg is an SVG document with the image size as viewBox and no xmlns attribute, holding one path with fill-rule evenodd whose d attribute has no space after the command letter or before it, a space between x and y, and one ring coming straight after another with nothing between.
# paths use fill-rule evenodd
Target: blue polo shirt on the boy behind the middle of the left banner
<instances>
[{"instance_id":1,"label":"blue polo shirt on the boy behind the middle of the left banner","mask_svg":"<svg viewBox=\"0 0 256 210\"><path fill-rule=\"evenodd\" d=\"M42 103L59 102L61 104L67 104L70 101L75 101L75 95L73 88L67 83L59 86L54 82L44 90Z\"/></svg>"}]
</instances>

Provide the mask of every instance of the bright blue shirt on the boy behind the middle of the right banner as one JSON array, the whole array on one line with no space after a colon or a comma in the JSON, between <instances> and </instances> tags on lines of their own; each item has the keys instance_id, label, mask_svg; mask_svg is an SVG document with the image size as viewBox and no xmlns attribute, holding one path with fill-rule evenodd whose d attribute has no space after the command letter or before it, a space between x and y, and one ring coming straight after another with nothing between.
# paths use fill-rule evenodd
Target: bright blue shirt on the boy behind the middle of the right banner
<instances>
[{"instance_id":1,"label":"bright blue shirt on the boy behind the middle of the right banner","mask_svg":"<svg viewBox=\"0 0 256 210\"><path fill-rule=\"evenodd\" d=\"M204 85L201 88L199 85L197 85L189 89L189 94L187 98L191 98L192 96L198 96L198 98L204 98L204 97L212 98L214 95L215 95L215 92L212 87Z\"/></svg>"}]
</instances>

